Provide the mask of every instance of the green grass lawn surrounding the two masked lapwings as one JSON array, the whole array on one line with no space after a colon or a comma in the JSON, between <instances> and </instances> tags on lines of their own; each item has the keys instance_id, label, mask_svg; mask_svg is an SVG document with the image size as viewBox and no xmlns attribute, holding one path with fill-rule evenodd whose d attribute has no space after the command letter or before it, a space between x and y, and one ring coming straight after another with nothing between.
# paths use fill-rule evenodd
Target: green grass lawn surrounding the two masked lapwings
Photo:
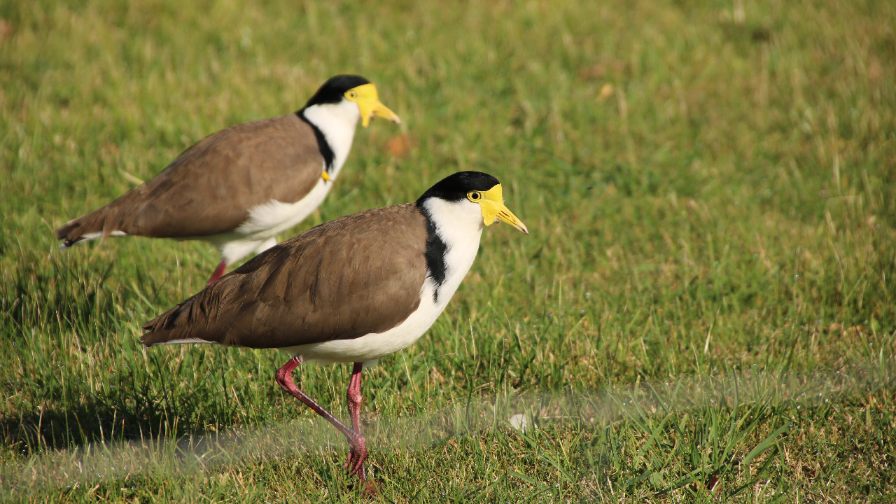
<instances>
[{"instance_id":1,"label":"green grass lawn surrounding the two masked lapwings","mask_svg":"<svg viewBox=\"0 0 896 504\"><path fill-rule=\"evenodd\" d=\"M345 72L405 125L359 130L295 232L459 169L531 231L489 228L435 326L366 372L365 500L893 499L896 6L258 4L0 4L4 500L358 501L283 354L142 351L211 248L53 239ZM346 415L349 369L299 375Z\"/></svg>"}]
</instances>

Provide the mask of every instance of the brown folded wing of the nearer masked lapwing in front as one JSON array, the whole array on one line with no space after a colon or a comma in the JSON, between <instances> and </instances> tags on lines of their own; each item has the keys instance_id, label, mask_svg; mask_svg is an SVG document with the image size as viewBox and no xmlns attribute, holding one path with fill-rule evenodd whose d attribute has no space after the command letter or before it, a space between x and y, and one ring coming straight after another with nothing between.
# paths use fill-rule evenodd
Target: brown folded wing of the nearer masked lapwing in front
<instances>
[{"instance_id":1,"label":"brown folded wing of the nearer masked lapwing in front","mask_svg":"<svg viewBox=\"0 0 896 504\"><path fill-rule=\"evenodd\" d=\"M418 308L425 251L414 204L325 222L151 320L142 342L282 348L382 333Z\"/></svg>"}]
</instances>

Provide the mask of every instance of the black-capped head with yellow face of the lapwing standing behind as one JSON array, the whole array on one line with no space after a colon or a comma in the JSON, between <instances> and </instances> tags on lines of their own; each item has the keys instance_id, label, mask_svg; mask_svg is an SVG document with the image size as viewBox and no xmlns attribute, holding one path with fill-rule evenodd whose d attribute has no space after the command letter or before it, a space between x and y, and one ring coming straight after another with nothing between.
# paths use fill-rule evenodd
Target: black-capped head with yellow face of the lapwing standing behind
<instances>
[{"instance_id":1,"label":"black-capped head with yellow face of the lapwing standing behind","mask_svg":"<svg viewBox=\"0 0 896 504\"><path fill-rule=\"evenodd\" d=\"M356 104L361 118L361 125L367 127L370 118L379 116L401 124L401 117L380 102L376 86L360 75L336 75L323 83L314 96L305 104L305 109L312 107L334 109ZM354 123L358 124L358 123Z\"/></svg>"}]
</instances>

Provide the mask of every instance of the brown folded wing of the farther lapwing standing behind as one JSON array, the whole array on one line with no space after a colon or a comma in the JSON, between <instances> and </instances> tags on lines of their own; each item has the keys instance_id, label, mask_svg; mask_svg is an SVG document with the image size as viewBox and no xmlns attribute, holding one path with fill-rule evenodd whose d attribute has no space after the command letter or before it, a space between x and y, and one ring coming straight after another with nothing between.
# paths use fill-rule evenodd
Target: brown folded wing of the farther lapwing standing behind
<instances>
[{"instance_id":1,"label":"brown folded wing of the farther lapwing standing behind","mask_svg":"<svg viewBox=\"0 0 896 504\"><path fill-rule=\"evenodd\" d=\"M195 143L142 186L59 228L56 238L73 243L114 230L156 238L218 234L245 222L256 204L302 199L322 170L314 130L296 114L232 126Z\"/></svg>"}]
</instances>

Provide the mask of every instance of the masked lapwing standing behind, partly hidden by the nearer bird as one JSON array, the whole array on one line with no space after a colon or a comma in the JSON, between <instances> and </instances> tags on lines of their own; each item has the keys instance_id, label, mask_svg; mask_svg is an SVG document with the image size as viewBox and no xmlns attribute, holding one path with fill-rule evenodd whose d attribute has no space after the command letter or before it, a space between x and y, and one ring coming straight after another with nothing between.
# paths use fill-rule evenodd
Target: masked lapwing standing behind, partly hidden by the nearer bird
<instances>
[{"instance_id":1,"label":"masked lapwing standing behind, partly hidden by the nearer bird","mask_svg":"<svg viewBox=\"0 0 896 504\"><path fill-rule=\"evenodd\" d=\"M220 251L208 284L271 248L314 212L349 156L358 120L401 123L374 84L337 75L294 114L231 126L182 153L158 176L56 230L62 248L108 236L202 239Z\"/></svg>"}]
</instances>

